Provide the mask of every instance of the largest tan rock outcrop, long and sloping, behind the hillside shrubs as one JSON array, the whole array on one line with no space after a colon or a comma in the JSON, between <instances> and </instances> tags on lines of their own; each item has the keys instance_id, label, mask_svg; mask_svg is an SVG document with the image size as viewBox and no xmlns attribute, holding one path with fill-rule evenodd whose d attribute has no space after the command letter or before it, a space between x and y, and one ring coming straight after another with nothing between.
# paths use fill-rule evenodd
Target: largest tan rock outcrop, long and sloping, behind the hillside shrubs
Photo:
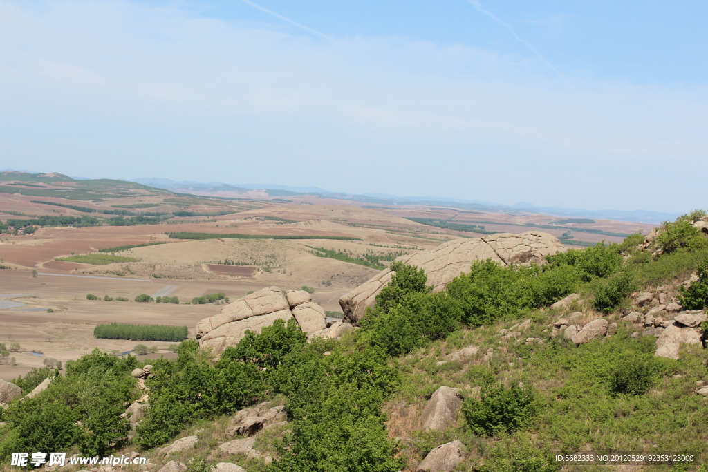
<instances>
[{"instance_id":1,"label":"largest tan rock outcrop, long and sloping, behind the hillside shrubs","mask_svg":"<svg viewBox=\"0 0 708 472\"><path fill-rule=\"evenodd\" d=\"M402 255L396 260L425 270L428 285L433 286L433 292L440 292L447 282L462 272L469 272L474 260L491 259L503 266L542 263L546 255L565 250L555 236L526 231L522 234L499 233L484 238L455 239L430 251ZM339 305L345 321L357 323L366 309L375 304L377 294L389 283L392 275L392 270L385 269L341 297Z\"/></svg>"}]
</instances>

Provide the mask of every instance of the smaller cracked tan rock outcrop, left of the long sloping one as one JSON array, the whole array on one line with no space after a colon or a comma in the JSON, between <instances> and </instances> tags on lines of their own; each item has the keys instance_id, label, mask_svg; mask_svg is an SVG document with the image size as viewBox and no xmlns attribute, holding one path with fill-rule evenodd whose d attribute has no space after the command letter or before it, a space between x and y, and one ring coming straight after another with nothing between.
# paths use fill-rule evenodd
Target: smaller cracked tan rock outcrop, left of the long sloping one
<instances>
[{"instance_id":1,"label":"smaller cracked tan rock outcrop, left of the long sloping one","mask_svg":"<svg viewBox=\"0 0 708 472\"><path fill-rule=\"evenodd\" d=\"M300 329L311 335L327 326L325 311L312 302L309 293L291 290L283 294L278 287L268 287L224 305L221 313L197 324L196 335L200 347L211 347L219 355L227 347L238 344L246 331L261 333L275 320L287 323L292 318Z\"/></svg>"}]
</instances>

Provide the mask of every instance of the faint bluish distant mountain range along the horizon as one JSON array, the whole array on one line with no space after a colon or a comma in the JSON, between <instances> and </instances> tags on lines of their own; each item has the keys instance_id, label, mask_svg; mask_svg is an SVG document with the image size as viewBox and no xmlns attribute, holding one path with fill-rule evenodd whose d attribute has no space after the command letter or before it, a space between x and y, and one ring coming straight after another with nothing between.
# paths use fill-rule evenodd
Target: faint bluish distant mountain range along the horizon
<instances>
[{"instance_id":1,"label":"faint bluish distant mountain range along the horizon","mask_svg":"<svg viewBox=\"0 0 708 472\"><path fill-rule=\"evenodd\" d=\"M202 195L219 192L236 192L247 194L253 190L264 190L270 197L287 197L294 195L311 195L338 200L353 200L355 202L370 203L372 205L433 205L457 207L463 209L477 209L485 212L530 212L550 214L559 217L586 217L593 219L615 219L619 221L636 221L639 223L661 223L662 221L673 220L680 216L679 213L653 212L651 210L617 210L617 209L577 209L562 207L539 207L528 202L518 202L514 205L501 205L494 202L479 202L475 200L462 200L450 197L438 197L429 195L426 197L401 197L399 195L387 195L381 193L364 193L361 195L334 192L318 187L291 187L289 185L273 184L228 184L222 182L201 183L183 180L177 182L169 178L134 178L130 182L142 183L156 188L164 188L173 192L198 192Z\"/></svg>"}]
</instances>

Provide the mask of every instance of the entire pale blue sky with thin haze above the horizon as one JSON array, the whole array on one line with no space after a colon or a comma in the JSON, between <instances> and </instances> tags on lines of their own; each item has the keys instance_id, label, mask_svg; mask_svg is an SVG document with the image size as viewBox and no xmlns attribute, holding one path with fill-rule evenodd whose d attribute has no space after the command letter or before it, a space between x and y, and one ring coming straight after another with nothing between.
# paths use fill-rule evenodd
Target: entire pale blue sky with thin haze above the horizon
<instances>
[{"instance_id":1,"label":"entire pale blue sky with thin haze above the horizon","mask_svg":"<svg viewBox=\"0 0 708 472\"><path fill-rule=\"evenodd\" d=\"M708 2L0 0L0 168L708 207Z\"/></svg>"}]
</instances>

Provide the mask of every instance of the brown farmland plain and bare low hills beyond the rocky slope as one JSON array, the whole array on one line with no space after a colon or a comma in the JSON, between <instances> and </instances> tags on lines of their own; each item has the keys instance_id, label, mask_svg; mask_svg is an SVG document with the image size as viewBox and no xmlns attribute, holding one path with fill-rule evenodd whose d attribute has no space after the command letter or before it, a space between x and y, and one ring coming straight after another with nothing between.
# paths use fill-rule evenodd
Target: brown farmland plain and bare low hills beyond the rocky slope
<instances>
[{"instance_id":1,"label":"brown farmland plain and bare low hills beyond the rocky slope","mask_svg":"<svg viewBox=\"0 0 708 472\"><path fill-rule=\"evenodd\" d=\"M64 183L55 183L59 187ZM61 184L61 185L60 185ZM53 184L52 184L53 185ZM52 185L47 184L47 188ZM242 195L241 195L242 196ZM484 236L472 232L448 231L418 224L406 217L440 218L452 223L482 224L487 230L544 231L561 236L566 231L579 241L619 242L621 237L574 231L594 228L617 233L648 232L652 225L600 220L594 224L565 224L557 229L537 229L527 224L549 224L562 218L540 214L500 214L468 212L459 209L430 209L423 206L401 206L392 209L362 208L358 202L326 200L316 197L288 197L292 203L265 200L265 192L254 191L251 197L264 200L238 202L208 200L174 194L108 198L101 202L64 200L53 197L27 197L0 194L0 218L21 218L6 212L32 215L81 216L81 212L64 207L32 203L30 200L64 202L81 207L115 209L113 205L154 205L151 212L217 212L234 214L215 217L176 217L161 224L139 226L93 226L86 228L44 227L30 236L0 238L0 263L17 267L0 270L0 300L23 304L0 309L0 343L18 342L19 352L0 364L0 378L12 379L31 367L41 367L42 357L30 352L43 352L45 357L62 361L76 359L94 348L106 352L125 352L138 343L155 345L159 352L150 355L172 356L166 350L170 343L130 340L98 340L93 328L99 323L152 323L187 326L190 335L196 323L222 308L219 304L156 304L135 301L90 301L86 294L103 299L170 291L182 302L205 294L224 292L236 299L251 290L276 285L281 289L314 287L313 299L324 309L339 311L338 299L348 290L377 273L377 269L317 257L313 248L343 251L351 257L362 254L397 255L433 248L459 237ZM102 215L113 217L113 215ZM265 220L278 217L295 221ZM480 222L484 221L484 222ZM326 239L208 239L185 241L170 239L166 232L193 231L212 234L268 234L298 236L349 236L361 241ZM138 262L89 265L57 261L55 258L93 253L101 248L135 245L156 241L169 244L132 248L117 255L137 258ZM573 247L573 246L570 246ZM225 260L241 265L225 265ZM387 264L384 262L384 265ZM39 272L32 276L32 270ZM76 277L79 276L79 277ZM18 294L22 294L19 297ZM14 295L5 297L5 295ZM53 313L47 313L47 309ZM28 311L34 310L34 311Z\"/></svg>"}]
</instances>

